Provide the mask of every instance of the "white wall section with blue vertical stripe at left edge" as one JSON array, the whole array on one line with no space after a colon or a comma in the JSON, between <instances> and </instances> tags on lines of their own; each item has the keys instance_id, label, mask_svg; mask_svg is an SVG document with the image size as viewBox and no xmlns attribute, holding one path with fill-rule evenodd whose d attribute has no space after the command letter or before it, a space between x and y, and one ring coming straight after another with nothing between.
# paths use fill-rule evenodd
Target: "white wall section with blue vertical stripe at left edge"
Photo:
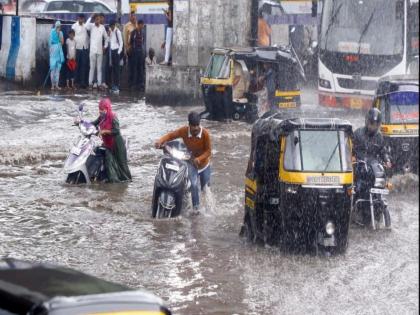
<instances>
[{"instance_id":1,"label":"white wall section with blue vertical stripe at left edge","mask_svg":"<svg viewBox=\"0 0 420 315\"><path fill-rule=\"evenodd\" d=\"M2 43L0 48L0 77L29 83L35 72L36 19L3 16Z\"/></svg>"}]
</instances>

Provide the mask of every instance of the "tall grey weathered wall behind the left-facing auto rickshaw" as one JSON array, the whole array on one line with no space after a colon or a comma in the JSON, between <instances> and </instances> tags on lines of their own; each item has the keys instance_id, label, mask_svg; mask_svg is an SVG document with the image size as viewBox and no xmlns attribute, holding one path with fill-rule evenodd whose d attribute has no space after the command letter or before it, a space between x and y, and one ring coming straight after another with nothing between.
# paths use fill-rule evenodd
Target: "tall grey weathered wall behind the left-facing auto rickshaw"
<instances>
[{"instance_id":1,"label":"tall grey weathered wall behind the left-facing auto rickshaw","mask_svg":"<svg viewBox=\"0 0 420 315\"><path fill-rule=\"evenodd\" d=\"M175 0L173 62L204 67L214 47L249 46L249 0Z\"/></svg>"}]
</instances>

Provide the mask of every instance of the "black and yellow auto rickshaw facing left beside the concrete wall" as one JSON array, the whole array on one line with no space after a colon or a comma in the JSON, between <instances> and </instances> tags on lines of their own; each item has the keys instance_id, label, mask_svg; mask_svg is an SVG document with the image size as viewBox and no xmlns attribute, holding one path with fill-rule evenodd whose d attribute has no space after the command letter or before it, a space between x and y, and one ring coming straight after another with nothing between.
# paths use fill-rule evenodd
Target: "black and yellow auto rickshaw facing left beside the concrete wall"
<instances>
[{"instance_id":1,"label":"black and yellow auto rickshaw facing left beside the concrete wall","mask_svg":"<svg viewBox=\"0 0 420 315\"><path fill-rule=\"evenodd\" d=\"M289 49L215 49L201 77L206 107L203 118L253 123L258 118L258 103L262 101L258 92L267 85L263 78L269 69L275 84L272 95L267 92L270 107L279 110L300 107L299 81L304 73Z\"/></svg>"}]
</instances>

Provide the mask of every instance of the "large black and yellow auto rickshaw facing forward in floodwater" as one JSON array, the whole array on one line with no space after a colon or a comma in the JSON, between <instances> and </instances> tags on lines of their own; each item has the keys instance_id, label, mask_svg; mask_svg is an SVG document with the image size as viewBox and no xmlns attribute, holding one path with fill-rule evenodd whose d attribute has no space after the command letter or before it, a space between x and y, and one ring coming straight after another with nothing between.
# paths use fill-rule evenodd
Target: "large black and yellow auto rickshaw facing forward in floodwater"
<instances>
[{"instance_id":1,"label":"large black and yellow auto rickshaw facing forward in floodwater","mask_svg":"<svg viewBox=\"0 0 420 315\"><path fill-rule=\"evenodd\" d=\"M252 131L241 234L292 252L343 253L350 224L352 126L274 114Z\"/></svg>"}]
</instances>

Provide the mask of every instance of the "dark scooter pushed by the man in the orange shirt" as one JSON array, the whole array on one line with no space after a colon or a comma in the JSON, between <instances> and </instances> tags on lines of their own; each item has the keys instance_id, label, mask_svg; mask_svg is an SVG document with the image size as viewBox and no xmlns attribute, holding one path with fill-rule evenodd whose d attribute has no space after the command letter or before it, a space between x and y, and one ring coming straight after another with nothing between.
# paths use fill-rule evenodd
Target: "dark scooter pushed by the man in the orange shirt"
<instances>
[{"instance_id":1,"label":"dark scooter pushed by the man in the orange shirt","mask_svg":"<svg viewBox=\"0 0 420 315\"><path fill-rule=\"evenodd\" d=\"M191 153L180 141L171 141L163 147L162 157L153 190L152 217L175 218L185 208L191 183L188 161Z\"/></svg>"}]
</instances>

